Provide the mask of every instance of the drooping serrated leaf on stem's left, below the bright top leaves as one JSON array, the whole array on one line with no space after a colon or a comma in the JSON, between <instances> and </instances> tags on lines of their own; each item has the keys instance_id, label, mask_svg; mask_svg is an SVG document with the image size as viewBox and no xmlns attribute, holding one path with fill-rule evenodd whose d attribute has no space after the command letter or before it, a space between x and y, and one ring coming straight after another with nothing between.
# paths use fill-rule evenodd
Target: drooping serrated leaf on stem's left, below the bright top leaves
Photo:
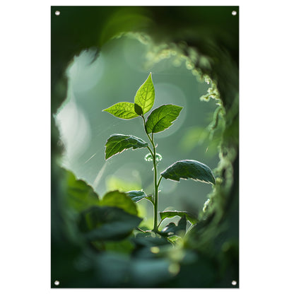
<instances>
[{"instance_id":1,"label":"drooping serrated leaf on stem's left, below the bright top leaves","mask_svg":"<svg viewBox=\"0 0 294 294\"><path fill-rule=\"evenodd\" d=\"M137 149L147 146L148 143L135 136L113 134L112 136L110 136L110 138L107 139L105 144L105 160L112 157L112 155L121 153L126 149Z\"/></svg>"}]
</instances>

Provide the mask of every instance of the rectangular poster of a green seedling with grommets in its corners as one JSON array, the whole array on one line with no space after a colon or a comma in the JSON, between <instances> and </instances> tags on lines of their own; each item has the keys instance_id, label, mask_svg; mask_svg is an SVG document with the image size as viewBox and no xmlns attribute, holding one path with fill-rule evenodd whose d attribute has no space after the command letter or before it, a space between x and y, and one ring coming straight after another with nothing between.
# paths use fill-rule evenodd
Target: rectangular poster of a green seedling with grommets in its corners
<instances>
[{"instance_id":1,"label":"rectangular poster of a green seedling with grommets in its corners","mask_svg":"<svg viewBox=\"0 0 294 294\"><path fill-rule=\"evenodd\" d=\"M51 185L52 288L239 288L238 6L52 6Z\"/></svg>"}]
</instances>

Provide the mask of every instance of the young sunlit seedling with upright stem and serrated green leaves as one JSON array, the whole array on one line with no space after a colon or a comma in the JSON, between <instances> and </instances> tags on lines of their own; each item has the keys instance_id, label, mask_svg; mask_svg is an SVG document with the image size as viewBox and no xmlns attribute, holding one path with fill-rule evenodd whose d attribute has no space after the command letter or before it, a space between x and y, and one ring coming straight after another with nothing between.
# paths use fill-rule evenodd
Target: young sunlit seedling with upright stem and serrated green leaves
<instances>
[{"instance_id":1,"label":"young sunlit seedling with upright stem and serrated green leaves","mask_svg":"<svg viewBox=\"0 0 294 294\"><path fill-rule=\"evenodd\" d=\"M151 201L154 208L153 232L166 237L170 235L181 235L182 231L186 230L187 220L193 224L196 223L196 217L192 215L192 213L186 211L163 211L160 212L161 221L165 218L172 218L174 216L180 216L181 219L178 225L170 223L162 231L158 229L161 223L160 221L158 224L158 189L161 180L165 178L167 180L180 181L182 178L210 184L216 184L216 180L211 169L207 165L204 165L204 163L199 163L199 161L196 160L179 160L167 167L163 172L160 172L160 177L158 177L158 163L162 157L160 154L156 153L157 144L155 143L154 134L168 129L172 125L172 122L179 116L182 107L177 105L161 105L153 110L146 119L144 114L151 110L154 100L155 90L150 73L143 85L137 90L134 103L118 102L103 110L119 119L141 117L143 120L143 130L151 144L149 145L149 143L136 136L112 134L105 144L105 160L129 148L147 148L150 153L146 155L145 160L153 162L153 195L147 196L143 191L130 191L127 192L127 195L135 202L144 198Z\"/></svg>"}]
</instances>

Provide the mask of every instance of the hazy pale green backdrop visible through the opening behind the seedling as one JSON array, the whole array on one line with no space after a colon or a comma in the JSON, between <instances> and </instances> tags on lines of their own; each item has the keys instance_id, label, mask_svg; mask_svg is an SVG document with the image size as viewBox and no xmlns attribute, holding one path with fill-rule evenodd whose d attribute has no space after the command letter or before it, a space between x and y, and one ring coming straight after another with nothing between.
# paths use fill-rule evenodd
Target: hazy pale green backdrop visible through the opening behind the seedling
<instances>
[{"instance_id":1,"label":"hazy pale green backdrop visible through the opening behind the seedling","mask_svg":"<svg viewBox=\"0 0 294 294\"><path fill-rule=\"evenodd\" d=\"M124 36L102 47L93 62L95 52L82 52L68 69L68 95L56 117L65 146L62 165L91 184L100 196L111 189L144 189L147 194L153 191L152 163L143 159L148 153L145 148L124 151L107 162L104 157L105 141L111 134L132 134L147 141L142 120L122 120L102 112L117 102L134 102L136 90L150 71L155 87L154 107L163 104L184 107L170 129L155 134L158 153L163 155L159 171L184 159L199 160L211 169L218 164L214 146L208 146L207 142L196 144L216 109L215 100L199 100L209 85L197 81L177 55L152 67L146 66L149 49L136 38ZM211 185L163 179L160 190L160 211L165 208L199 211ZM141 201L139 207L141 215L147 214L152 220L151 204Z\"/></svg>"}]
</instances>

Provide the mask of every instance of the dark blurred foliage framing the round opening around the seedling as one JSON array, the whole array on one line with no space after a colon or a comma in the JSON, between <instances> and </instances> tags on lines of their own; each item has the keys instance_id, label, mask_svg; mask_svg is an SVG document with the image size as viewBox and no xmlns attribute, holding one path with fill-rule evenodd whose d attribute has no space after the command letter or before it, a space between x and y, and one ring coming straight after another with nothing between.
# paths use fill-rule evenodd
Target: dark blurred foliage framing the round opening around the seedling
<instances>
[{"instance_id":1,"label":"dark blurred foliage framing the round opening around the seedling","mask_svg":"<svg viewBox=\"0 0 294 294\"><path fill-rule=\"evenodd\" d=\"M57 10L62 17L55 16ZM228 288L239 282L239 28L233 10L238 13L231 6L52 7L52 287L55 280L59 288ZM125 211L134 209L132 202L110 209L92 187L60 167L54 114L66 98L69 63L81 50L99 52L112 37L129 32L148 35L161 53L176 48L211 81L203 99L221 101L211 123L211 131L221 127L220 118L224 124L218 183L199 222L173 247L153 235L129 235L139 221L135 211ZM97 225L95 242L89 242L89 225Z\"/></svg>"}]
</instances>

